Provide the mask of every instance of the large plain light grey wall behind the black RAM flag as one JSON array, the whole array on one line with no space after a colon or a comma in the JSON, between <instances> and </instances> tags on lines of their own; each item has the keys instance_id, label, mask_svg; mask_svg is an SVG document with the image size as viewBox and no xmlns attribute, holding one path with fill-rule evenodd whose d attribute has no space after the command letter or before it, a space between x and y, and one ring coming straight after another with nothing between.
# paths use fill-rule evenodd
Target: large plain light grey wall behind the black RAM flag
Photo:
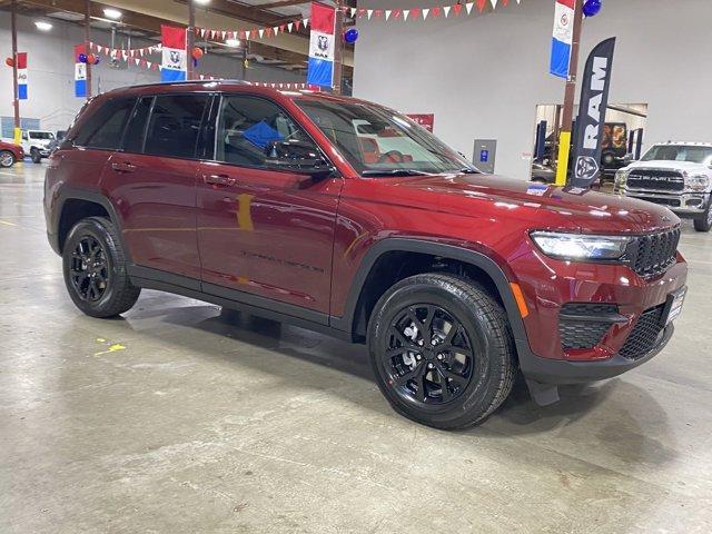
<instances>
[{"instance_id":1,"label":"large plain light grey wall behind the black RAM flag","mask_svg":"<svg viewBox=\"0 0 712 534\"><path fill-rule=\"evenodd\" d=\"M396 0L388 8L424 2ZM383 8L380 0L359 7ZM435 134L472 156L475 138L498 140L496 172L528 176L536 105L563 100L550 76L553 0L514 0L485 16L419 22L359 20L354 96L404 112L434 112ZM617 37L611 102L649 105L645 145L712 141L712 1L606 0L584 22L582 69Z\"/></svg>"}]
</instances>

